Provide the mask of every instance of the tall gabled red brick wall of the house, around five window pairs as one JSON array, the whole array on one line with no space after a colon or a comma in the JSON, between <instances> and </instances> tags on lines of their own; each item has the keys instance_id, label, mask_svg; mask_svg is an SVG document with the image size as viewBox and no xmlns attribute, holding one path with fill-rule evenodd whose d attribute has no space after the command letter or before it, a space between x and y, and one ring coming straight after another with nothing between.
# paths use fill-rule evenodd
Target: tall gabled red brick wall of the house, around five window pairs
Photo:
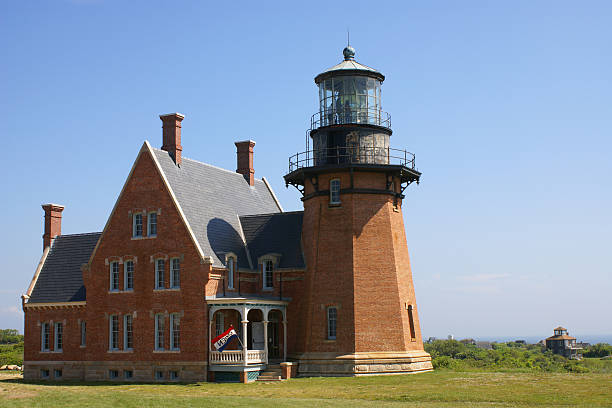
<instances>
[{"instance_id":1,"label":"tall gabled red brick wall of the house, around five window pairs","mask_svg":"<svg viewBox=\"0 0 612 408\"><path fill-rule=\"evenodd\" d=\"M132 239L131 214L157 211L157 237ZM180 290L155 290L155 257L167 257L165 287L170 280L170 258L181 258ZM135 259L134 290L123 291L123 264L120 289L109 292L109 265L112 260ZM133 174L116 204L99 247L84 272L87 287L87 359L132 361L206 361L207 309L204 288L210 265L200 257L167 192L149 153L141 153ZM156 313L180 313L180 353L154 352ZM123 315L133 314L133 352L109 352L109 315L119 315L119 347L123 349ZM170 320L165 319L165 346L169 348ZM91 340L91 341L90 341Z\"/></svg>"}]
</instances>

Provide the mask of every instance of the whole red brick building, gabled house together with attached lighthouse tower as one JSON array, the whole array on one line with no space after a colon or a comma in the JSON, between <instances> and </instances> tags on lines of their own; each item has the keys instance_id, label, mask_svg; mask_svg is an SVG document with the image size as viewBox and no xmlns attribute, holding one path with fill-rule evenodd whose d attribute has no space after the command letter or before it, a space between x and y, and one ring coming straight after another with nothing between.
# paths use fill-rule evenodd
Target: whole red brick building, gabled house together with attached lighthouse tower
<instances>
[{"instance_id":1,"label":"whole red brick building, gabled house together with attached lighthouse tower","mask_svg":"<svg viewBox=\"0 0 612 408\"><path fill-rule=\"evenodd\" d=\"M284 212L256 179L183 157L178 113L160 116L102 232L61 235L43 205L43 254L26 294L26 379L251 381L283 374L428 371L402 217L414 155L390 148L384 76L344 50L319 74L320 107ZM232 325L223 352L211 339ZM242 346L244 345L244 347Z\"/></svg>"}]
</instances>

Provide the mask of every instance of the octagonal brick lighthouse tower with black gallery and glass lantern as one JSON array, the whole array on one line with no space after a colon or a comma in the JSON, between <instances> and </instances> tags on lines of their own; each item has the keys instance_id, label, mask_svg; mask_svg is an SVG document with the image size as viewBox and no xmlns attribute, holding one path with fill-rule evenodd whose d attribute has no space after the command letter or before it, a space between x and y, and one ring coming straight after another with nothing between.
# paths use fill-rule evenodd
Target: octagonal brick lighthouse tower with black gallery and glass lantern
<instances>
[{"instance_id":1,"label":"octagonal brick lighthouse tower with black gallery and glass lantern","mask_svg":"<svg viewBox=\"0 0 612 408\"><path fill-rule=\"evenodd\" d=\"M307 268L292 357L301 375L431 370L401 211L421 173L412 153L390 148L384 75L355 61L351 46L343 54L315 78L320 105L307 151L289 159L285 175L303 195Z\"/></svg>"}]
</instances>

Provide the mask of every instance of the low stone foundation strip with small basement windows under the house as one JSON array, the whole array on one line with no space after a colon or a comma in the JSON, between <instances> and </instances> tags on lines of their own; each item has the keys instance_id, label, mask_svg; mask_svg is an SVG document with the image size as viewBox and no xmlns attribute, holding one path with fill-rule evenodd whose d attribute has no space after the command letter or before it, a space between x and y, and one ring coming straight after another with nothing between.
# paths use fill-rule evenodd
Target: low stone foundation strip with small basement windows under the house
<instances>
[{"instance_id":1,"label":"low stone foundation strip with small basement windows under the house","mask_svg":"<svg viewBox=\"0 0 612 408\"><path fill-rule=\"evenodd\" d=\"M44 377L47 370L49 376ZM56 370L61 370L61 377L56 375ZM112 378L111 371L117 377ZM127 372L131 372L131 377L126 376ZM207 376L206 362L26 361L23 364L25 380L193 382L206 381Z\"/></svg>"}]
</instances>

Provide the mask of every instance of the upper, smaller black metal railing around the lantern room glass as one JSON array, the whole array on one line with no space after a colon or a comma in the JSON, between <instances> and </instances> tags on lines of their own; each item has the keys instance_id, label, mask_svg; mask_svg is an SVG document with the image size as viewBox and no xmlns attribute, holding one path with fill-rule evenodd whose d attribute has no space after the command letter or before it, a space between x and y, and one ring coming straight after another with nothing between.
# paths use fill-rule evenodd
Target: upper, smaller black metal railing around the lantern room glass
<instances>
[{"instance_id":1,"label":"upper, smaller black metal railing around the lantern room glass","mask_svg":"<svg viewBox=\"0 0 612 408\"><path fill-rule=\"evenodd\" d=\"M376 125L391 128L391 115L380 109L351 108L348 106L326 109L312 115L310 129L331 125Z\"/></svg>"}]
</instances>

